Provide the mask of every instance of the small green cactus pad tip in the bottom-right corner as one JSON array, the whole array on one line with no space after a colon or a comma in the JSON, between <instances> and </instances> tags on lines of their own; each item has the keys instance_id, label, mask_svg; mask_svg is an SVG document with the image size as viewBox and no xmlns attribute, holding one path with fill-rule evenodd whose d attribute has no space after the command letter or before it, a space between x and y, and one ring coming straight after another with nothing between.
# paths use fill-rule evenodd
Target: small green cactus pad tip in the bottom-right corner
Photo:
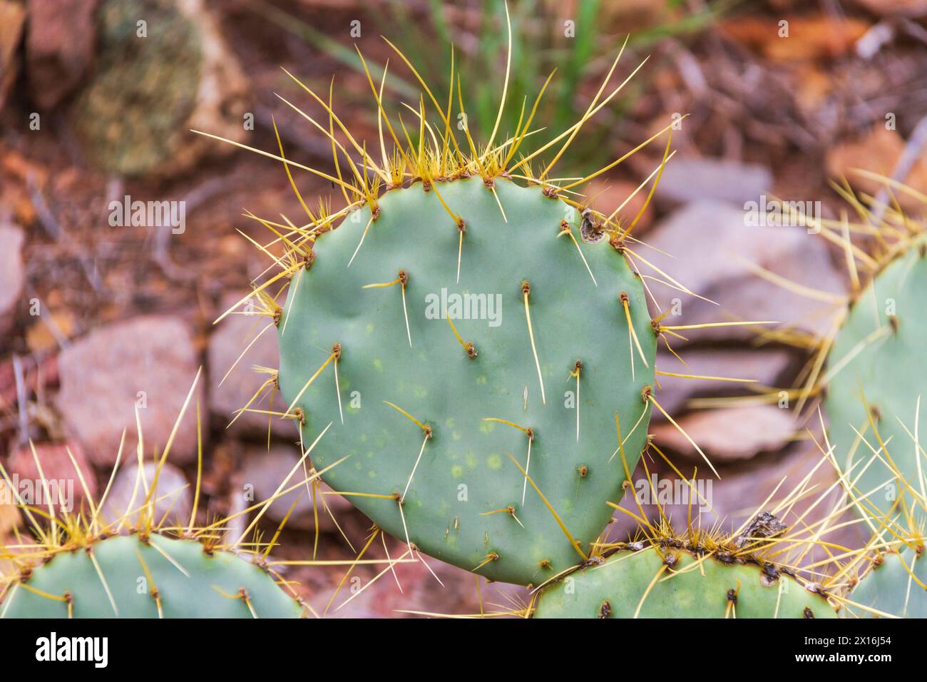
<instances>
[{"instance_id":1,"label":"small green cactus pad tip in the bottom-right corner","mask_svg":"<svg viewBox=\"0 0 927 682\"><path fill-rule=\"evenodd\" d=\"M911 576L927 585L927 559L923 547L918 552L904 547L900 552L887 552L873 562L850 595L858 605L849 607L857 616L878 615L881 611L899 618L927 618L927 590ZM864 608L859 608L864 607Z\"/></svg>"}]
</instances>

